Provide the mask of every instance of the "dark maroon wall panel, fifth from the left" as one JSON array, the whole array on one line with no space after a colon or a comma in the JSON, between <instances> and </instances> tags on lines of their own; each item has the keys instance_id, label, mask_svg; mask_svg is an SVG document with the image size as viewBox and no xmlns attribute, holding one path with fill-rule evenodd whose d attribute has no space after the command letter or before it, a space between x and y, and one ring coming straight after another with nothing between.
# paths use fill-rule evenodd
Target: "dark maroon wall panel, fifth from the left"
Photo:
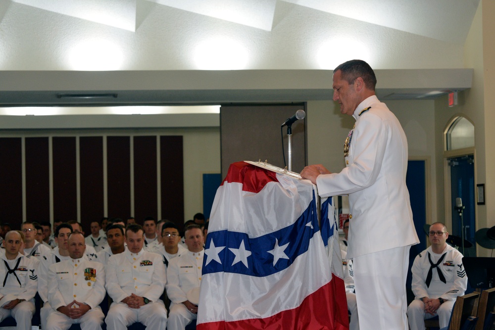
<instances>
[{"instance_id":1,"label":"dark maroon wall panel, fifth from the left","mask_svg":"<svg viewBox=\"0 0 495 330\"><path fill-rule=\"evenodd\" d=\"M107 201L109 218L131 215L131 163L129 136L109 136L107 146Z\"/></svg>"}]
</instances>

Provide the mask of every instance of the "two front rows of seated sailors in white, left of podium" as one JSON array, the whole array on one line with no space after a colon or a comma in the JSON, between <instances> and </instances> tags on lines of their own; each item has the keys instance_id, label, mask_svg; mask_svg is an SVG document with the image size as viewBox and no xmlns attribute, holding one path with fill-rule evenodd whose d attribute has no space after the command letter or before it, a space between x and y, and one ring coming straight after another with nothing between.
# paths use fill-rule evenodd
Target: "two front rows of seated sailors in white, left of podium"
<instances>
[{"instance_id":1,"label":"two front rows of seated sailors in white, left of podium","mask_svg":"<svg viewBox=\"0 0 495 330\"><path fill-rule=\"evenodd\" d=\"M0 252L0 321L11 316L17 329L31 329L38 292L42 329L68 329L74 323L101 329L103 322L109 330L136 322L147 329L185 329L198 313L203 231L190 225L181 243L177 225L161 227L158 242L145 248L141 225L111 224L99 252L86 244L77 222L55 229L53 249L36 241L33 223L9 231ZM99 304L106 293L113 302L105 317ZM170 300L168 317L164 293Z\"/></svg>"}]
</instances>

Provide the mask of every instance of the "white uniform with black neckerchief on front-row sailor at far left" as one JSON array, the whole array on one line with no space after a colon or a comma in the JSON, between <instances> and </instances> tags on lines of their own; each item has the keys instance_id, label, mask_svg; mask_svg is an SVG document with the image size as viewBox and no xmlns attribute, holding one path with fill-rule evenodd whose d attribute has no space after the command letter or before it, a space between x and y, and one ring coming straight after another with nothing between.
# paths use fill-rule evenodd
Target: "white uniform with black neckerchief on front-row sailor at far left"
<instances>
[{"instance_id":1,"label":"white uniform with black neckerchief on front-row sailor at far left","mask_svg":"<svg viewBox=\"0 0 495 330\"><path fill-rule=\"evenodd\" d=\"M18 254L14 260L8 260L5 254L0 256L0 306L14 299L25 299L13 309L0 308L0 321L12 316L17 323L17 329L31 329L31 319L35 312L34 296L38 289L39 260L27 258ZM8 272L7 266L13 273Z\"/></svg>"}]
</instances>

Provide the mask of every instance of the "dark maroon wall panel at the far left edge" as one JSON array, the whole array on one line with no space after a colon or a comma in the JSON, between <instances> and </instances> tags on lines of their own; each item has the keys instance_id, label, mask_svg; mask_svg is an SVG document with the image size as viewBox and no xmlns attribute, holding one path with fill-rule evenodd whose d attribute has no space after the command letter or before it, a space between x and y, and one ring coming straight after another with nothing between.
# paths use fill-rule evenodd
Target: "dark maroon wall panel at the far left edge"
<instances>
[{"instance_id":1,"label":"dark maroon wall panel at the far left edge","mask_svg":"<svg viewBox=\"0 0 495 330\"><path fill-rule=\"evenodd\" d=\"M0 138L0 222L22 222L22 139Z\"/></svg>"}]
</instances>

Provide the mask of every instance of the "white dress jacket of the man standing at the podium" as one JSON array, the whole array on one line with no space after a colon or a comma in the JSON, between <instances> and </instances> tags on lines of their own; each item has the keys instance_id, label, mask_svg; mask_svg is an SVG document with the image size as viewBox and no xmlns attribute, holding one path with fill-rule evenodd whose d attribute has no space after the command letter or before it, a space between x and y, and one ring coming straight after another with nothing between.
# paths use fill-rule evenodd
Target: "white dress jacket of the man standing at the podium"
<instances>
[{"instance_id":1,"label":"white dress jacket of the man standing at the podium","mask_svg":"<svg viewBox=\"0 0 495 330\"><path fill-rule=\"evenodd\" d=\"M321 197L349 195L347 258L417 244L405 185L407 140L400 123L375 95L361 102L353 117L347 167L316 180ZM394 235L384 239L384 231Z\"/></svg>"}]
</instances>

